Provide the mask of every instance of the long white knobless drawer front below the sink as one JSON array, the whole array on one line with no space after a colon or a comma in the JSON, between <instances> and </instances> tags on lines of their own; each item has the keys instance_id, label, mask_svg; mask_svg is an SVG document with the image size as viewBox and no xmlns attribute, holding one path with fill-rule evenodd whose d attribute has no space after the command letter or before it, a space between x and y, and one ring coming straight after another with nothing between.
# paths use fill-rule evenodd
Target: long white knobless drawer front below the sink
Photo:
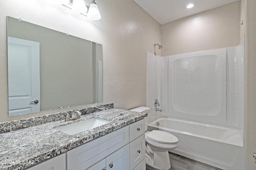
<instances>
[{"instance_id":1,"label":"long white knobless drawer front below the sink","mask_svg":"<svg viewBox=\"0 0 256 170\"><path fill-rule=\"evenodd\" d=\"M68 170L84 170L129 142L129 127L92 140L67 152Z\"/></svg>"}]
</instances>

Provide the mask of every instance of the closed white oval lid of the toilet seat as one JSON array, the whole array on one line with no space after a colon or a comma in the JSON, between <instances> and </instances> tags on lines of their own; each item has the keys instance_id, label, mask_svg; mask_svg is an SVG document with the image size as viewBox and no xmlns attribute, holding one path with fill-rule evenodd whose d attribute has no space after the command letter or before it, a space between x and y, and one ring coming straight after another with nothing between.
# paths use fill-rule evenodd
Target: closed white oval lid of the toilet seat
<instances>
[{"instance_id":1,"label":"closed white oval lid of the toilet seat","mask_svg":"<svg viewBox=\"0 0 256 170\"><path fill-rule=\"evenodd\" d=\"M163 143L163 144L173 144L179 141L178 138L173 134L160 131L160 130L152 130L147 134L147 138L154 142Z\"/></svg>"}]
</instances>

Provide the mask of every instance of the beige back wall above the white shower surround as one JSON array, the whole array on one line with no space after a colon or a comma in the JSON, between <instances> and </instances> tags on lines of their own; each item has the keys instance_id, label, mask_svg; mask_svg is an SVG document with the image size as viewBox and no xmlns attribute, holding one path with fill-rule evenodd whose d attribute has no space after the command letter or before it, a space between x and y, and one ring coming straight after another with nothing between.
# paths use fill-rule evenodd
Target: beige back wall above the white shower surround
<instances>
[{"instance_id":1,"label":"beige back wall above the white shower surround","mask_svg":"<svg viewBox=\"0 0 256 170\"><path fill-rule=\"evenodd\" d=\"M240 1L161 25L162 56L240 43Z\"/></svg>"}]
</instances>

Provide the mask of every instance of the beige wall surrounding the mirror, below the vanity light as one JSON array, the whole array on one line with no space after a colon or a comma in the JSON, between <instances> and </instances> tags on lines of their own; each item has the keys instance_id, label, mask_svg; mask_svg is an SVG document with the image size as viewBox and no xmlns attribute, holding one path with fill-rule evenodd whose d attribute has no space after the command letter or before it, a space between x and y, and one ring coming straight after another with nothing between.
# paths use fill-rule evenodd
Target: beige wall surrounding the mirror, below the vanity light
<instances>
[{"instance_id":1,"label":"beige wall surrounding the mirror, below the vanity light","mask_svg":"<svg viewBox=\"0 0 256 170\"><path fill-rule=\"evenodd\" d=\"M146 51L153 53L160 42L160 25L133 0L97 4L102 18L92 21L53 0L0 1L0 122L52 113L8 117L6 16L101 43L103 102L121 109L146 106Z\"/></svg>"}]
</instances>

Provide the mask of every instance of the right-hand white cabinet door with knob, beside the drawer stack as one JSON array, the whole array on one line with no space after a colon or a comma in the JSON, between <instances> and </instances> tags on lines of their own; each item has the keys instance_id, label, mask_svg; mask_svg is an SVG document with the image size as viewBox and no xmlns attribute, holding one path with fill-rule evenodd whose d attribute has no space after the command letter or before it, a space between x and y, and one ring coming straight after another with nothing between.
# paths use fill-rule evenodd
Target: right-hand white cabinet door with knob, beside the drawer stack
<instances>
[{"instance_id":1,"label":"right-hand white cabinet door with knob, beside the drawer stack","mask_svg":"<svg viewBox=\"0 0 256 170\"><path fill-rule=\"evenodd\" d=\"M129 144L106 157L107 170L130 170Z\"/></svg>"}]
</instances>

